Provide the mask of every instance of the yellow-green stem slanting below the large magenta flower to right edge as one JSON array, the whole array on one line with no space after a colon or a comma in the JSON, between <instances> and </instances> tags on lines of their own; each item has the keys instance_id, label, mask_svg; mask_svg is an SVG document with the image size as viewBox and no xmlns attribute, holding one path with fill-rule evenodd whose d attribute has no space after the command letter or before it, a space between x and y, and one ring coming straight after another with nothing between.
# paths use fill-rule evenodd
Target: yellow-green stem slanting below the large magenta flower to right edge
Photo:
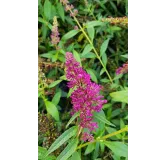
<instances>
[{"instance_id":1,"label":"yellow-green stem slanting below the large magenta flower to right edge","mask_svg":"<svg viewBox=\"0 0 166 160\"><path fill-rule=\"evenodd\" d=\"M83 148L83 147L85 147L85 146L87 146L87 145L89 145L89 144L95 143L95 142L97 142L97 141L103 141L103 140L105 140L105 139L107 139L107 138L109 138L109 137L115 136L115 135L117 135L117 134L120 134L120 133L126 132L126 131L128 131L128 127L125 127L125 128L120 129L119 131L116 131L116 132L107 134L106 136L103 136L103 137L101 137L101 138L97 138L97 139L95 139L95 140L92 141L92 142L87 142L87 143L81 144L81 145L79 145L79 146L76 148L76 150L77 150L77 149L80 149L80 148Z\"/></svg>"}]
</instances>

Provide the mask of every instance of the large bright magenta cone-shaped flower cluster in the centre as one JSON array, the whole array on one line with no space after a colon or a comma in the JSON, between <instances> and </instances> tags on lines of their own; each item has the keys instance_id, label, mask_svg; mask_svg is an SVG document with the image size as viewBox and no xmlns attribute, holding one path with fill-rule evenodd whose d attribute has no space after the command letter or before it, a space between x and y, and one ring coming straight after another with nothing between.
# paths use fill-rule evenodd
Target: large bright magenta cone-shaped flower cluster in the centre
<instances>
[{"instance_id":1,"label":"large bright magenta cone-shaped flower cluster in the centre","mask_svg":"<svg viewBox=\"0 0 166 160\"><path fill-rule=\"evenodd\" d=\"M91 82L90 75L82 69L70 52L66 53L65 65L68 87L74 89L71 94L73 114L80 113L82 128L87 128L90 132L95 131L98 125L93 122L93 112L100 112L103 104L107 103L100 95L101 86ZM93 138L90 134L83 133L82 139L91 141Z\"/></svg>"}]
</instances>

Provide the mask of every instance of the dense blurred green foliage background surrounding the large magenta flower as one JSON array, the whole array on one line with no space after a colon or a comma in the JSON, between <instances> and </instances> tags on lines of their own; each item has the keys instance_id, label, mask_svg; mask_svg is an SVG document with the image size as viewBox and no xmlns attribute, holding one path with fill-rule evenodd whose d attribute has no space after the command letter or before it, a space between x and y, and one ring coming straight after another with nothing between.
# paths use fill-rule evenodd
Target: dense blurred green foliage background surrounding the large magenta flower
<instances>
[{"instance_id":1,"label":"dense blurred green foliage background surrounding the large magenta flower","mask_svg":"<svg viewBox=\"0 0 166 160\"><path fill-rule=\"evenodd\" d=\"M112 134L128 124L128 73L127 70L120 72L128 64L127 0L70 0L76 20L85 33L63 4L59 0L38 0L39 159L43 158L55 139L67 130L66 125L71 118L72 90L66 85L64 67L66 52L72 52L91 75L92 81L103 86L101 94L108 101L100 112L100 117L108 122L95 119L99 128L94 137ZM75 121L70 125L75 125ZM127 140L127 132L122 132L111 136L110 142L97 141L87 145L70 158L127 159ZM67 141L45 159L56 159L66 146Z\"/></svg>"}]
</instances>

